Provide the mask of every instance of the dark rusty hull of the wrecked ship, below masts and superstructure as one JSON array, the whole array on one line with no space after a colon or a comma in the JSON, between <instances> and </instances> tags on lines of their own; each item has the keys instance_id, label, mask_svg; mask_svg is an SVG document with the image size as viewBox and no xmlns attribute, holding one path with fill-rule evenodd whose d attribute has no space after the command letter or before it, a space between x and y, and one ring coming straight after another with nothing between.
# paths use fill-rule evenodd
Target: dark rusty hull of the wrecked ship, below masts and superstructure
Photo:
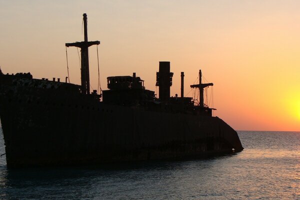
<instances>
[{"instance_id":1,"label":"dark rusty hull of the wrecked ship, below masts and superstructure","mask_svg":"<svg viewBox=\"0 0 300 200\"><path fill-rule=\"evenodd\" d=\"M32 82L46 85L47 81L29 79L29 84L13 85L13 75L0 78L0 118L9 167L180 158L242 150L236 131L218 117L109 105L68 91L76 87L69 83L48 81L52 82L49 88L39 88Z\"/></svg>"}]
</instances>

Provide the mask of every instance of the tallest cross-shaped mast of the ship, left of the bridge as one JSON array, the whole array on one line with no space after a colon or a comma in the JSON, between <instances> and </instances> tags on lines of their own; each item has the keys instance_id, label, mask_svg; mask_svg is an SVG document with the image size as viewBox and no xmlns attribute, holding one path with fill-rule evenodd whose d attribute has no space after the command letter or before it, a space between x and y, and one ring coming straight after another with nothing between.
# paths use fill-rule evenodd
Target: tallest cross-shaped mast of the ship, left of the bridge
<instances>
[{"instance_id":1,"label":"tallest cross-shaped mast of the ship, left of the bridge","mask_svg":"<svg viewBox=\"0 0 300 200\"><path fill-rule=\"evenodd\" d=\"M100 41L87 40L87 15L83 14L84 41L74 43L65 43L66 47L76 46L81 49L81 93L89 94L89 66L88 66L88 47L94 44L100 44Z\"/></svg>"}]
</instances>

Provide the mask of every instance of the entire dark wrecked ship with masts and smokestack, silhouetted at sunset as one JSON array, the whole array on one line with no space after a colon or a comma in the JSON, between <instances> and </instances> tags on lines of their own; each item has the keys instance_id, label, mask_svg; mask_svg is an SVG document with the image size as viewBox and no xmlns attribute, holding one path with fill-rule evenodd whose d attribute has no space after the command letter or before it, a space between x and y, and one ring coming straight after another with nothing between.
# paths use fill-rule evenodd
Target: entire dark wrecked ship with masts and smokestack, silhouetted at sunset
<instances>
[{"instance_id":1,"label":"entire dark wrecked ship with masts and smokestack, silhouetted at sunset","mask_svg":"<svg viewBox=\"0 0 300 200\"><path fill-rule=\"evenodd\" d=\"M81 85L0 71L0 119L7 167L57 166L202 157L243 149L238 135L203 103L170 97L170 62L160 61L154 91L135 73L107 77L107 90L89 90L87 17L81 49Z\"/></svg>"}]
</instances>

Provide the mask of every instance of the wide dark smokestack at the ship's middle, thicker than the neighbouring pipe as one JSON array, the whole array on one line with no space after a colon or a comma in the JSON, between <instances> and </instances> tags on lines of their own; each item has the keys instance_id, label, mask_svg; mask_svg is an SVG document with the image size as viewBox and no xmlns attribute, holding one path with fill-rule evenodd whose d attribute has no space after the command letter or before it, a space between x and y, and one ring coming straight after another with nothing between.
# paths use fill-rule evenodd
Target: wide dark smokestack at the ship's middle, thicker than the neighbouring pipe
<instances>
[{"instance_id":1,"label":"wide dark smokestack at the ship's middle, thicker than the neighbouring pipe","mask_svg":"<svg viewBox=\"0 0 300 200\"><path fill-rule=\"evenodd\" d=\"M173 73L170 72L169 61L159 61L159 71L156 72L156 86L159 86L159 99L168 101Z\"/></svg>"}]
</instances>

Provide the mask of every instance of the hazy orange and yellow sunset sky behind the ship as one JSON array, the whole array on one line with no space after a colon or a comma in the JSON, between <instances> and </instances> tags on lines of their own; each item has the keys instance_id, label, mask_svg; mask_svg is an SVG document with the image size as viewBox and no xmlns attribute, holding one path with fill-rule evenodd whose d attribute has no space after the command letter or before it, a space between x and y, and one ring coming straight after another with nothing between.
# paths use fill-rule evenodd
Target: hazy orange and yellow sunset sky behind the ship
<instances>
[{"instance_id":1,"label":"hazy orange and yellow sunset sky behind the ship","mask_svg":"<svg viewBox=\"0 0 300 200\"><path fill-rule=\"evenodd\" d=\"M213 115L235 130L300 131L298 0L0 0L0 67L34 78L67 76L65 43L83 40L87 13L91 87L132 75L155 87L159 61L174 72L171 95L195 93L199 69ZM76 47L69 78L80 84ZM212 97L213 96L213 97Z\"/></svg>"}]
</instances>

